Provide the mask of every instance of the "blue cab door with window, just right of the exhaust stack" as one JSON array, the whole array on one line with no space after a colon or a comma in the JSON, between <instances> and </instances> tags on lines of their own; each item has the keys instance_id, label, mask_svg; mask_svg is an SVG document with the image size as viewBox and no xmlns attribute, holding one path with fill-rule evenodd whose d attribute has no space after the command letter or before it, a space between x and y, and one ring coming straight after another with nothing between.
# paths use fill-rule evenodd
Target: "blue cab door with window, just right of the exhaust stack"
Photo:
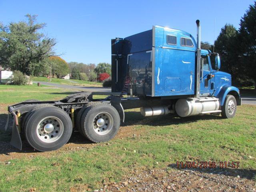
<instances>
[{"instance_id":1,"label":"blue cab door with window, just right of the exhaust stack","mask_svg":"<svg viewBox=\"0 0 256 192\"><path fill-rule=\"evenodd\" d=\"M202 94L201 96L208 96L210 94L210 75L211 71L209 65L209 57L207 55L202 55L200 66L200 94Z\"/></svg>"}]
</instances>

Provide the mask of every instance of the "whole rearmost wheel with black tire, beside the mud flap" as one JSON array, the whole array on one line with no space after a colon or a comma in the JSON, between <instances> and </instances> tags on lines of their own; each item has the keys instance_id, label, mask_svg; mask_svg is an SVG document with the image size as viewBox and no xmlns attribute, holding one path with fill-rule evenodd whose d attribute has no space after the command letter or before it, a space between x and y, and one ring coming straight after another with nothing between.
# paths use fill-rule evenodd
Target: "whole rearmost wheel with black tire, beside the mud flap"
<instances>
[{"instance_id":1,"label":"whole rearmost wheel with black tire, beside the mud flap","mask_svg":"<svg viewBox=\"0 0 256 192\"><path fill-rule=\"evenodd\" d=\"M62 109L54 106L30 112L24 127L28 143L38 151L52 151L62 147L72 134L72 121Z\"/></svg>"}]
</instances>

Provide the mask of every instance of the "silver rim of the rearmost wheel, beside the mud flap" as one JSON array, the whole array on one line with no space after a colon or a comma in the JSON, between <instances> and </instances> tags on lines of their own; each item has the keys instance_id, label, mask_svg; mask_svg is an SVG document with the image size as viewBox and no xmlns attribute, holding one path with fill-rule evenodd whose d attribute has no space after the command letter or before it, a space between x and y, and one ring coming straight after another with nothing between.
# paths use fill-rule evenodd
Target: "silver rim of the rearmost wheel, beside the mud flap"
<instances>
[{"instance_id":1,"label":"silver rim of the rearmost wheel, beside the mud flap","mask_svg":"<svg viewBox=\"0 0 256 192\"><path fill-rule=\"evenodd\" d=\"M62 121L54 116L43 118L37 125L36 133L38 138L46 143L58 140L64 131Z\"/></svg>"}]
</instances>

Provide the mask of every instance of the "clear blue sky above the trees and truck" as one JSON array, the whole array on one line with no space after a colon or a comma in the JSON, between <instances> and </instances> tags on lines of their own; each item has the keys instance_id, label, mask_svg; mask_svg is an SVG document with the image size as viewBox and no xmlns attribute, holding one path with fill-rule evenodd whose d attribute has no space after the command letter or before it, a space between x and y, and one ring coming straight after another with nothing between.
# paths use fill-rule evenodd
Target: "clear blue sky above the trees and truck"
<instances>
[{"instance_id":1,"label":"clear blue sky above the trees and truck","mask_svg":"<svg viewBox=\"0 0 256 192\"><path fill-rule=\"evenodd\" d=\"M0 0L0 22L25 20L37 14L47 24L44 32L56 38L57 54L67 62L111 62L111 38L124 38L153 25L185 30L196 38L196 20L201 21L202 41L214 42L226 24L239 28L254 0Z\"/></svg>"}]
</instances>

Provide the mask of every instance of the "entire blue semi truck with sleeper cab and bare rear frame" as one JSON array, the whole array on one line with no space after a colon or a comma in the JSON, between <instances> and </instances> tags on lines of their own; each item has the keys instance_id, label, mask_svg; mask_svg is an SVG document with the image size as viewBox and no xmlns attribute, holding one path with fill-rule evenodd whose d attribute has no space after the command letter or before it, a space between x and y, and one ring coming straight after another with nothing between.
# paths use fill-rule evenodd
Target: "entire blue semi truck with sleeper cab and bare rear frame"
<instances>
[{"instance_id":1,"label":"entire blue semi truck with sleeper cab and bare rear frame","mask_svg":"<svg viewBox=\"0 0 256 192\"><path fill-rule=\"evenodd\" d=\"M93 99L91 92L59 101L27 100L8 106L14 119L11 144L22 149L20 135L36 150L62 147L77 129L92 142L106 142L124 122L124 110L140 108L143 116L203 114L232 118L241 105L231 75L219 71L218 53L200 48L182 30L153 26L151 30L111 40L112 94ZM124 97L124 95L128 95Z\"/></svg>"}]
</instances>

